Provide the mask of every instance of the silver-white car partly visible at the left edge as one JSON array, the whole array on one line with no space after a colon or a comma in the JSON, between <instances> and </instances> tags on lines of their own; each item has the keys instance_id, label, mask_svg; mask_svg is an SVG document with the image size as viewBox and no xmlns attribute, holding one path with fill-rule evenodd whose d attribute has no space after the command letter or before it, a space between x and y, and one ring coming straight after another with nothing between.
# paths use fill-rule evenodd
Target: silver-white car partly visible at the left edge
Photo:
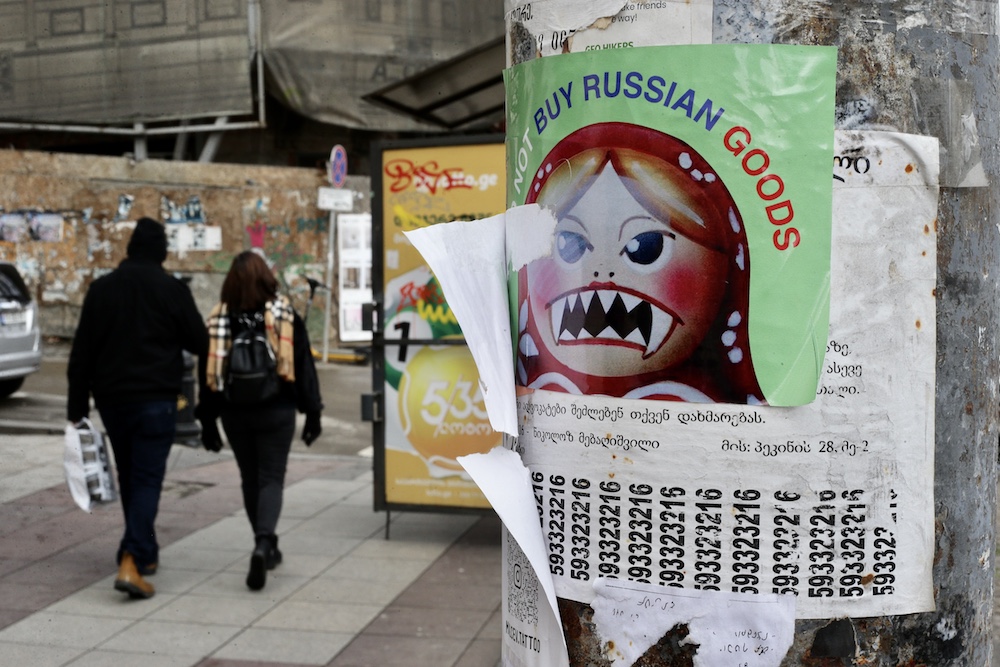
<instances>
[{"instance_id":1,"label":"silver-white car partly visible at the left edge","mask_svg":"<svg viewBox=\"0 0 1000 667\"><path fill-rule=\"evenodd\" d=\"M38 304L9 262L0 262L0 398L21 388L42 366Z\"/></svg>"}]
</instances>

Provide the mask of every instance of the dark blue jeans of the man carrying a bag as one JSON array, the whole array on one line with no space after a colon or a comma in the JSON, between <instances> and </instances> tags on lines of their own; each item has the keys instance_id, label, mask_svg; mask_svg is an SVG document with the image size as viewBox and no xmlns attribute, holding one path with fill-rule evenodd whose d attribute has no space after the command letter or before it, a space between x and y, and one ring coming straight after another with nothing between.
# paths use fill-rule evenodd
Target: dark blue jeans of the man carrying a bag
<instances>
[{"instance_id":1,"label":"dark blue jeans of the man carrying a bag","mask_svg":"<svg viewBox=\"0 0 1000 667\"><path fill-rule=\"evenodd\" d=\"M177 401L148 401L99 408L111 439L118 487L125 513L125 534L118 549L132 554L140 570L159 561L153 527L167 457L177 430Z\"/></svg>"}]
</instances>

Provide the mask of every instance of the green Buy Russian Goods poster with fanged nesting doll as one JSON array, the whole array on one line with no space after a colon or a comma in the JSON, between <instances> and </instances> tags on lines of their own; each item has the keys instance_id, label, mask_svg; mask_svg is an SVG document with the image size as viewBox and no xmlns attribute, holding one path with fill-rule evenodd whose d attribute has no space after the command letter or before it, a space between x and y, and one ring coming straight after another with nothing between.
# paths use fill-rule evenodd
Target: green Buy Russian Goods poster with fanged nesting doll
<instances>
[{"instance_id":1,"label":"green Buy Russian Goods poster with fanged nesting doll","mask_svg":"<svg viewBox=\"0 0 1000 667\"><path fill-rule=\"evenodd\" d=\"M518 384L802 405L829 323L836 49L666 46L505 73ZM516 244L517 239L508 239Z\"/></svg>"}]
</instances>

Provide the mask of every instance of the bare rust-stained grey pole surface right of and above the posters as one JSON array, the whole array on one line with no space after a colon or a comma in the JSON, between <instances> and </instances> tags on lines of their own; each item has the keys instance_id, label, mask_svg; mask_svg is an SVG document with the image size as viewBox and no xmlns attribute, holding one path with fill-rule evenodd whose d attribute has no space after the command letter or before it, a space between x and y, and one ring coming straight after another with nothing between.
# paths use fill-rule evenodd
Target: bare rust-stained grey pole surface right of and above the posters
<instances>
[{"instance_id":1,"label":"bare rust-stained grey pole surface right of and above the posters","mask_svg":"<svg viewBox=\"0 0 1000 667\"><path fill-rule=\"evenodd\" d=\"M997 14L996 2L715 3L716 43L839 48L838 129L891 128L941 142L937 611L800 621L785 665L856 664L862 650L866 665L991 664L1000 374Z\"/></svg>"}]
</instances>

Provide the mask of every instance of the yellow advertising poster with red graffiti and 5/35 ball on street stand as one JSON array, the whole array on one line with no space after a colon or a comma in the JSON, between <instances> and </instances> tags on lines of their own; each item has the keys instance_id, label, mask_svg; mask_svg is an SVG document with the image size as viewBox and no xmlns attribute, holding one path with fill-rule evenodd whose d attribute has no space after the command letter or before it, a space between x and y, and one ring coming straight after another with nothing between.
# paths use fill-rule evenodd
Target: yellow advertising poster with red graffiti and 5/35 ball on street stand
<instances>
[{"instance_id":1,"label":"yellow advertising poster with red graffiti and 5/35 ball on street stand","mask_svg":"<svg viewBox=\"0 0 1000 667\"><path fill-rule=\"evenodd\" d=\"M390 148L381 164L385 500L488 507L456 459L500 436L458 321L404 233L502 212L503 145Z\"/></svg>"}]
</instances>

